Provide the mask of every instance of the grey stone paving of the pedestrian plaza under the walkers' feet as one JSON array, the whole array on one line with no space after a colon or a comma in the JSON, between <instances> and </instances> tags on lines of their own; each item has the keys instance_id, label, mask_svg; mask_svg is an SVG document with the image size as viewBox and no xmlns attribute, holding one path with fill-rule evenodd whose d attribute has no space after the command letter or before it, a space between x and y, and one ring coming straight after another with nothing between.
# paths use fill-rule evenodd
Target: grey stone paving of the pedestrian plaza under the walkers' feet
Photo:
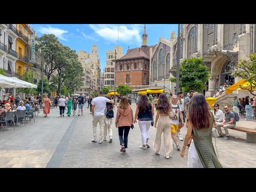
<instances>
[{"instance_id":1,"label":"grey stone paving of the pedestrian plaza under the walkers' feet","mask_svg":"<svg viewBox=\"0 0 256 192\"><path fill-rule=\"evenodd\" d=\"M169 159L164 157L163 136L160 155L153 151L156 128L150 126L150 148L140 149L142 144L138 123L128 136L126 154L120 152L118 129L113 123L113 142L91 142L92 115L84 105L80 116L59 116L59 109L51 109L47 118L42 111L35 122L28 121L26 126L18 124L14 130L10 126L0 130L0 168L186 168L186 158L174 147ZM132 103L135 113L136 104ZM116 114L116 109L114 109ZM78 109L77 109L78 114ZM155 113L156 116L156 113ZM256 128L256 120L245 121L240 117L238 126ZM114 120L113 120L114 122ZM181 129L183 138L186 127ZM222 129L223 130L223 129ZM224 132L224 131L223 131ZM246 133L229 130L230 140L213 138L219 160L224 168L256 168L256 143L246 143ZM99 126L97 137L99 140ZM183 141L178 143L182 146Z\"/></svg>"}]
</instances>

